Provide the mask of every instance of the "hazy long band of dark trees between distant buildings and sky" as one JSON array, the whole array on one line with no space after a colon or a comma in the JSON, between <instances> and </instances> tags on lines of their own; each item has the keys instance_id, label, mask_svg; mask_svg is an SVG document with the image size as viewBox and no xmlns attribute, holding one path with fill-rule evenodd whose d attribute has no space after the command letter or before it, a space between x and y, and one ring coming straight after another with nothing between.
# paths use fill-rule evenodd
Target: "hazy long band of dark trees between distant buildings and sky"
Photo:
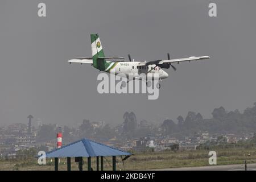
<instances>
[{"instance_id":1,"label":"hazy long band of dark trees between distant buildings and sky","mask_svg":"<svg viewBox=\"0 0 256 182\"><path fill-rule=\"evenodd\" d=\"M96 126L97 125L97 126ZM55 139L56 125L42 125L38 131L37 142L48 142ZM243 134L256 131L256 102L240 113L238 110L227 111L224 107L213 109L212 117L205 119L200 113L189 111L184 118L180 115L176 121L165 119L160 125L151 121L137 121L135 113L127 111L123 114L123 122L117 126L90 122L84 119L78 128L63 127L65 142L74 142L81 138L88 138L98 142L108 142L116 137L118 142L139 139L141 137L172 137L184 140L184 137L193 137L195 133L207 131L213 134Z\"/></svg>"}]
</instances>

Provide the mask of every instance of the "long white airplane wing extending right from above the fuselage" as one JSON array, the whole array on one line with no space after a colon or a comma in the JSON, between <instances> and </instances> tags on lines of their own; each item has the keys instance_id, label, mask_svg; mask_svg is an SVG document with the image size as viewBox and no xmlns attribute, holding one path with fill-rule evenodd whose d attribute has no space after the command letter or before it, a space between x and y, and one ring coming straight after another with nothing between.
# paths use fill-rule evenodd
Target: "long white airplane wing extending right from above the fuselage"
<instances>
[{"instance_id":1,"label":"long white airplane wing extending right from above the fuselage","mask_svg":"<svg viewBox=\"0 0 256 182\"><path fill-rule=\"evenodd\" d=\"M199 56L199 57L187 57L187 58L180 58L180 59L169 59L169 60L155 60L155 61L148 61L148 62L141 62L139 63L140 66L144 66L144 65L151 65L151 64L163 64L163 63L180 63L180 62L184 62L184 61L196 61L196 60L203 60L203 59L209 59L209 56Z\"/></svg>"}]
</instances>

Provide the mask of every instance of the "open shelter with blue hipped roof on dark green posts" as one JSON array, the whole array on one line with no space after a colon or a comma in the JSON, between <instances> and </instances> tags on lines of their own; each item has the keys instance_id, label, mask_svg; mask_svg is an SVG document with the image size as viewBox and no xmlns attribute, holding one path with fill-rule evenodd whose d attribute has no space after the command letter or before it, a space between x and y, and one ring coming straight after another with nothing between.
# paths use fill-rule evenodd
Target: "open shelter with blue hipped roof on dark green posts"
<instances>
[{"instance_id":1,"label":"open shelter with blue hipped roof on dark green posts","mask_svg":"<svg viewBox=\"0 0 256 182\"><path fill-rule=\"evenodd\" d=\"M118 148L106 146L105 144L94 142L89 139L81 139L70 143L61 148L46 153L46 158L55 158L55 170L58 169L58 158L67 158L68 171L71 170L71 158L79 162L79 169L82 170L82 157L88 158L88 171L91 170L91 158L96 157L97 171L99 170L99 157L101 157L101 170L103 170L103 157L112 156L113 171L116 170L116 156L126 156L123 160L129 158L132 154L119 150Z\"/></svg>"}]
</instances>

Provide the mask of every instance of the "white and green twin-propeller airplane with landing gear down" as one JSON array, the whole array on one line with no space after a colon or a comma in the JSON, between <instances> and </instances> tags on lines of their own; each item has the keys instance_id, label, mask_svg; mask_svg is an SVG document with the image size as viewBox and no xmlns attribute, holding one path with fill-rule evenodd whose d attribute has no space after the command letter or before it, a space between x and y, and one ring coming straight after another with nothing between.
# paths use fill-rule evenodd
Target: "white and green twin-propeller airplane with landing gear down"
<instances>
[{"instance_id":1,"label":"white and green twin-propeller airplane with landing gear down","mask_svg":"<svg viewBox=\"0 0 256 182\"><path fill-rule=\"evenodd\" d=\"M154 61L131 61L130 54L128 55L129 61L120 61L120 59L125 59L125 57L106 57L103 51L103 47L101 44L100 37L98 34L90 34L90 41L92 46L92 57L78 57L76 59L69 60L69 64L71 63L80 63L80 64L91 64L94 68L108 72L110 74L119 74L124 73L129 80L139 79L142 80L139 75L144 73L146 75L146 83L147 78L151 76L151 80L154 80L152 75L148 73L158 73L158 88L160 88L160 81L165 78L168 78L168 73L163 71L162 68L168 69L172 67L174 71L176 68L174 67L174 63L179 64L180 62L184 61L195 61L195 60L203 60L209 59L209 56L191 56L187 58L181 59L170 59L170 54L167 53L168 59L167 60L154 60ZM114 59L119 59L119 61L113 61ZM112 60L112 61L109 61Z\"/></svg>"}]
</instances>

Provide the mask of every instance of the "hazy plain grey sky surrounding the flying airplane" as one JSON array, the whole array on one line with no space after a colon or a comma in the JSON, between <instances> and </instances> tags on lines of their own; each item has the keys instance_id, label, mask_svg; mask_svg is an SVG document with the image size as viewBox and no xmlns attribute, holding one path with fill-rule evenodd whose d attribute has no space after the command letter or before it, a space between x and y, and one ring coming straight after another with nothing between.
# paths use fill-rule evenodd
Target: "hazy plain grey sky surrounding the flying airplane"
<instances>
[{"instance_id":1,"label":"hazy plain grey sky surrounding the flying airplane","mask_svg":"<svg viewBox=\"0 0 256 182\"><path fill-rule=\"evenodd\" d=\"M38 3L47 6L38 17ZM210 2L217 17L208 16ZM0 122L75 125L82 119L162 122L215 107L243 111L256 102L256 1L11 1L0 2ZM135 60L187 56L209 60L168 69L158 100L146 94L98 94L97 69L71 64L91 56L98 32L106 56ZM126 56L127 57L127 56Z\"/></svg>"}]
</instances>

